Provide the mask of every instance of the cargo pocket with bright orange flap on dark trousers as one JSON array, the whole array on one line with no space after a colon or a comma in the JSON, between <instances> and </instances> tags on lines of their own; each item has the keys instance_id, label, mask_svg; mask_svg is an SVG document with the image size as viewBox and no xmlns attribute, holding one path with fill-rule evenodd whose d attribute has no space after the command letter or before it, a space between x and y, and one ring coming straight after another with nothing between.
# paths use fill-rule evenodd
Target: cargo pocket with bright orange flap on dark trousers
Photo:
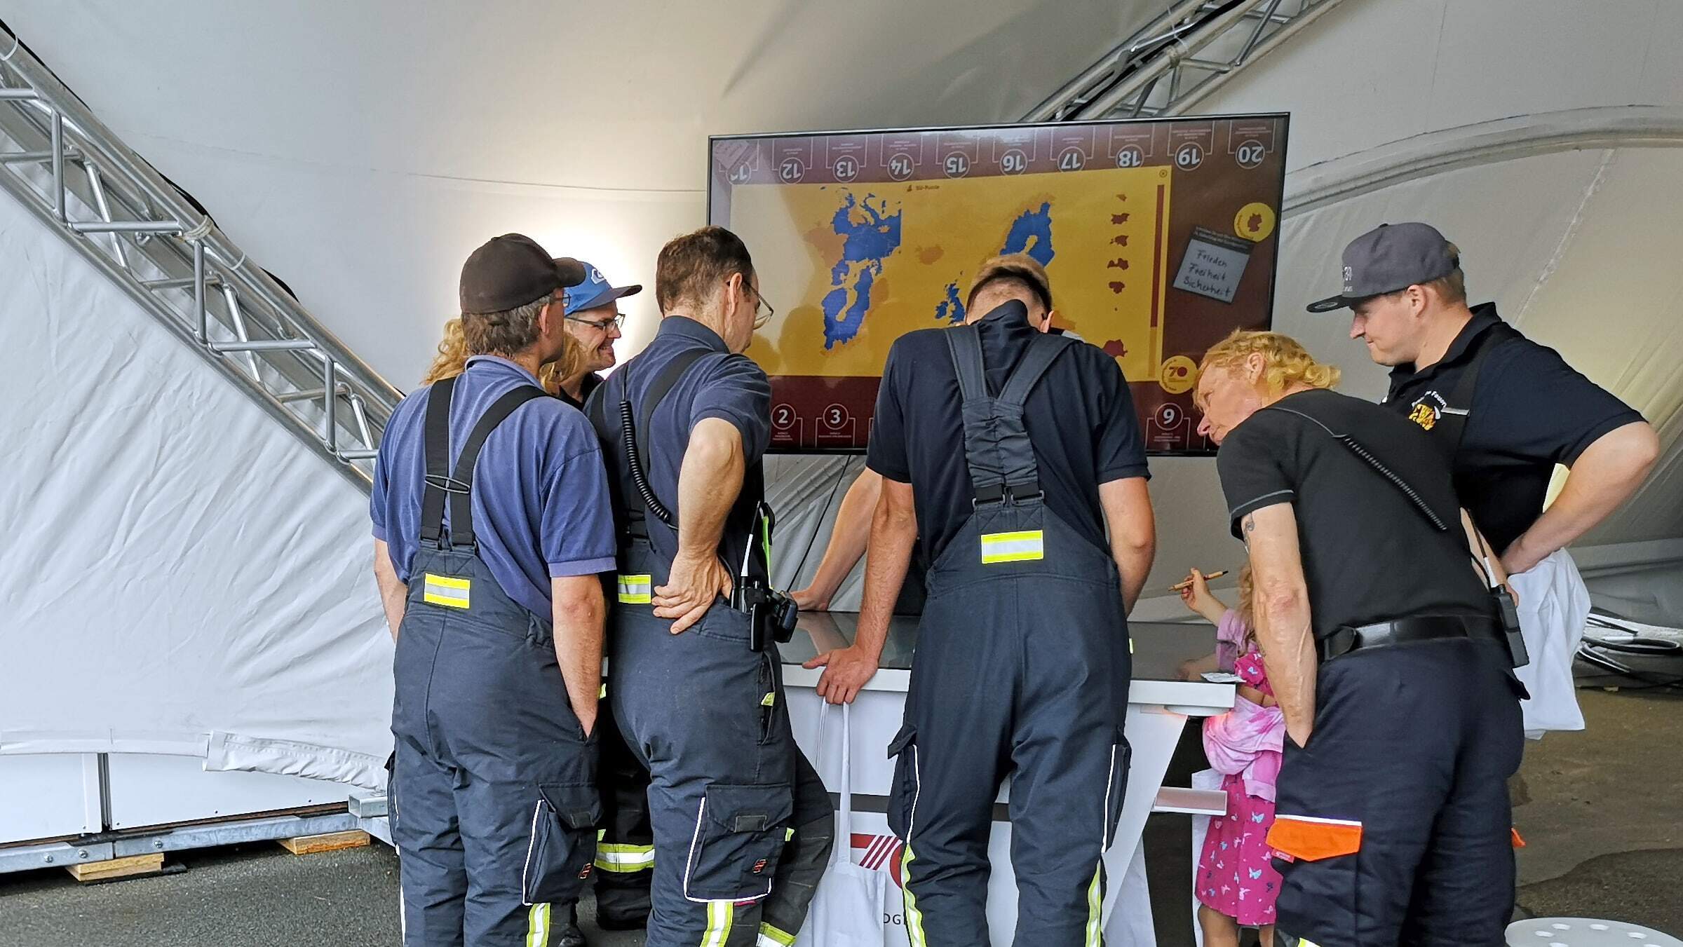
<instances>
[{"instance_id":1,"label":"cargo pocket with bright orange flap on dark trousers","mask_svg":"<svg viewBox=\"0 0 1683 947\"><path fill-rule=\"evenodd\" d=\"M1318 930L1345 930L1353 939L1362 823L1274 816L1267 844L1286 863L1277 868L1289 876L1291 912L1316 918Z\"/></svg>"}]
</instances>

